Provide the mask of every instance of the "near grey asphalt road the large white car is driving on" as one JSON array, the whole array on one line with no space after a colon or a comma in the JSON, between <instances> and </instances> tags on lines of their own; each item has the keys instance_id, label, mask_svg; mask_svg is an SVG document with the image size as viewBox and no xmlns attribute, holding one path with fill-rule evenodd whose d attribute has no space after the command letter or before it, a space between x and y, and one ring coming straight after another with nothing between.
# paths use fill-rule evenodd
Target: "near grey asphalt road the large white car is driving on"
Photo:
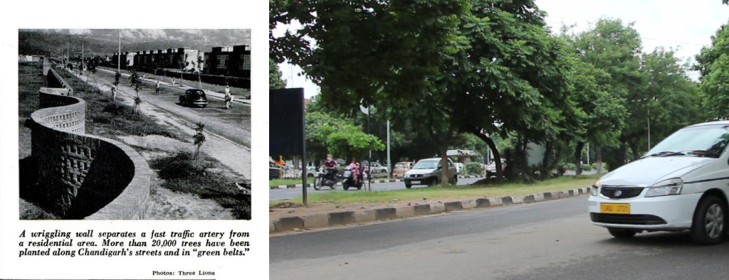
<instances>
[{"instance_id":1,"label":"near grey asphalt road the large white car is driving on","mask_svg":"<svg viewBox=\"0 0 729 280\"><path fill-rule=\"evenodd\" d=\"M270 279L725 279L728 261L687 232L613 239L586 196L269 239Z\"/></svg>"}]
</instances>

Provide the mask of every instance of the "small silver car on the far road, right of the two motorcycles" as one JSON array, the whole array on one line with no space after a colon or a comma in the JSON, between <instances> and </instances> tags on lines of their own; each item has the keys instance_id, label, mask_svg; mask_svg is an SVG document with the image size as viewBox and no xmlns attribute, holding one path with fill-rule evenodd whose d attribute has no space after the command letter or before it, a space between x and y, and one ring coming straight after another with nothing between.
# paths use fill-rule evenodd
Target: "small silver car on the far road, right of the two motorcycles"
<instances>
[{"instance_id":1,"label":"small silver car on the far road, right of the two motorcycles","mask_svg":"<svg viewBox=\"0 0 729 280\"><path fill-rule=\"evenodd\" d=\"M405 172L405 188L413 185L440 185L443 182L443 169L440 167L440 158L421 159L413 169ZM451 159L448 159L448 175L452 184L458 183L458 172Z\"/></svg>"}]
</instances>

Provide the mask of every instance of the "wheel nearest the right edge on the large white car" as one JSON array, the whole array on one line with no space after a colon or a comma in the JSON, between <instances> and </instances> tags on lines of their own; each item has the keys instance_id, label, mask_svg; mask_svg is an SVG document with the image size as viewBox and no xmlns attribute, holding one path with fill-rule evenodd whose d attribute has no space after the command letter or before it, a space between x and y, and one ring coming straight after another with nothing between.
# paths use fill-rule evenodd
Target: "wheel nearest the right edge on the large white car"
<instances>
[{"instance_id":1,"label":"wheel nearest the right edge on the large white car","mask_svg":"<svg viewBox=\"0 0 729 280\"><path fill-rule=\"evenodd\" d=\"M717 196L701 199L693 213L691 237L698 244L717 244L726 235L726 207Z\"/></svg>"}]
</instances>

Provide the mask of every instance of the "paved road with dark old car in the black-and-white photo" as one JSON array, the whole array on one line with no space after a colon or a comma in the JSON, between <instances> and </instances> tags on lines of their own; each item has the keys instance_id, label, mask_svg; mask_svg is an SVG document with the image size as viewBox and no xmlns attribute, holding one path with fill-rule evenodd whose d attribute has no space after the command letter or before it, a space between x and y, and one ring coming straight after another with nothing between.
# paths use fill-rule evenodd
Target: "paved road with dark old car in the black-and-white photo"
<instances>
[{"instance_id":1,"label":"paved road with dark old car in the black-and-white photo","mask_svg":"<svg viewBox=\"0 0 729 280\"><path fill-rule=\"evenodd\" d=\"M97 71L96 76L99 84L114 83L114 73ZM122 76L121 83L128 86L128 77ZM162 87L162 89L162 93L155 95L154 84L145 83L141 91L142 102L155 105L193 124L202 121L209 131L246 148L251 147L250 105L235 103L232 109L225 110L222 99L208 95L209 104L206 108L190 108L179 103L179 95L182 95L184 90L172 87Z\"/></svg>"}]
</instances>

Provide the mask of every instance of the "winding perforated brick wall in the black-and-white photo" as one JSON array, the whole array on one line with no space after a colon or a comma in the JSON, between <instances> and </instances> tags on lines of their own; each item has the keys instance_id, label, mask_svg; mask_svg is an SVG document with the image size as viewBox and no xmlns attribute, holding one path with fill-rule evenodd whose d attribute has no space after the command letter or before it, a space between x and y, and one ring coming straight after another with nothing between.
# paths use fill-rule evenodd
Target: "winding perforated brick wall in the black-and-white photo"
<instances>
[{"instance_id":1,"label":"winding perforated brick wall in the black-and-white photo","mask_svg":"<svg viewBox=\"0 0 729 280\"><path fill-rule=\"evenodd\" d=\"M86 135L86 103L68 96L71 90L41 88L39 110L31 114L32 157L45 206L67 219L144 218L147 161L128 145Z\"/></svg>"}]
</instances>

